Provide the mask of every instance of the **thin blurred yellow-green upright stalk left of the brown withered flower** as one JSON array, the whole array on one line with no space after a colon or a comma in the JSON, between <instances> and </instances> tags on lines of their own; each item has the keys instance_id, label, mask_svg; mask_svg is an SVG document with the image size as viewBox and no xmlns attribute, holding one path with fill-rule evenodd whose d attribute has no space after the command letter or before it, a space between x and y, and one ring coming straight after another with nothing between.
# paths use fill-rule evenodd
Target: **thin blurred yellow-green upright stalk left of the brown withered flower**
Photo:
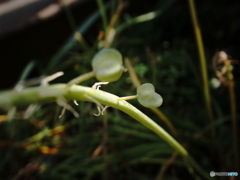
<instances>
[{"instance_id":1,"label":"thin blurred yellow-green upright stalk left of the brown withered flower","mask_svg":"<svg viewBox=\"0 0 240 180\"><path fill-rule=\"evenodd\" d=\"M212 139L215 139L216 138L216 129L215 129L215 123L214 123L214 118L213 118L213 110L212 110L212 106L211 106L210 91L209 91L209 86L208 86L208 73L207 73L205 52L204 52L203 42L202 42L202 35L201 35L200 26L198 24L194 0L188 0L188 2L189 2L190 11L191 11L192 23L193 23L193 27L194 27L194 31L195 31L195 37L196 37L196 41L197 41L199 58L200 58L200 63L201 63L203 91L204 91L204 97L205 97L208 118L210 121L210 127L211 127L211 131L212 131Z\"/></svg>"}]
</instances>

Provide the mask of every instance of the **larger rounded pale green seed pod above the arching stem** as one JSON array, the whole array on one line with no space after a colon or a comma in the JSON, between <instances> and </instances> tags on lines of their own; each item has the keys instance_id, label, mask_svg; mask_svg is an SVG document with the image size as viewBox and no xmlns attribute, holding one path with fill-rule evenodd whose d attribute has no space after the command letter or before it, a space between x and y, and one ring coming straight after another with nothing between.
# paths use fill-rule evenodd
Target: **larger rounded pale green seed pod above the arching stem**
<instances>
[{"instance_id":1,"label":"larger rounded pale green seed pod above the arching stem","mask_svg":"<svg viewBox=\"0 0 240 180\"><path fill-rule=\"evenodd\" d=\"M117 81L122 73L122 55L113 48L100 50L92 60L93 72L99 81Z\"/></svg>"}]
</instances>

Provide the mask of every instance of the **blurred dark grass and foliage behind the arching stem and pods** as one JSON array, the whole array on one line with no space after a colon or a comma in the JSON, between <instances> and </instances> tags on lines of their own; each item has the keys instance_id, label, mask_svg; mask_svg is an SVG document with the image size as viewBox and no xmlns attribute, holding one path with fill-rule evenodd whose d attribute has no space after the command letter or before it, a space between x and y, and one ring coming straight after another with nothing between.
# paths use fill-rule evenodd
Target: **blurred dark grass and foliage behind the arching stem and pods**
<instances>
[{"instance_id":1,"label":"blurred dark grass and foliage behind the arching stem and pods","mask_svg":"<svg viewBox=\"0 0 240 180\"><path fill-rule=\"evenodd\" d=\"M130 59L142 83L154 84L156 92L164 99L159 109L178 132L175 138L207 172L237 171L233 168L228 89L223 84L213 87L210 82L216 78L211 62L216 52L224 50L231 59L240 59L239 1L196 1L217 129L214 140L203 100L197 46L187 1L110 1L108 22L121 3L126 3L126 7L119 14L116 28L131 18L152 11L160 14L117 33L112 47ZM64 71L64 76L52 83L65 83L92 70L91 59L101 45L99 34L104 30L100 15L95 21L91 19L91 13L98 12L97 1L85 1L70 6L69 10L72 19L67 18L67 11L63 11L47 21L0 39L1 89L12 88L30 61L35 66L27 78ZM56 56L63 52L62 47L69 45L64 42L71 37L71 20L77 26L80 24L77 29L91 24L83 33L88 47L84 49L77 42L68 41L71 48L63 56ZM234 64L233 75L236 102L239 102L239 61ZM93 78L82 84L92 86L96 81ZM120 97L136 94L128 72L119 81L101 89ZM153 112L141 107L137 100L130 103L171 134ZM104 116L95 117L94 104L79 102L77 107L70 104L79 112L79 118L66 112L59 119L61 107L55 103L33 105L30 115L26 109L17 109L13 116L1 111L1 179L200 178L168 144L131 117L112 108L108 108ZM239 114L237 117L239 119Z\"/></svg>"}]
</instances>

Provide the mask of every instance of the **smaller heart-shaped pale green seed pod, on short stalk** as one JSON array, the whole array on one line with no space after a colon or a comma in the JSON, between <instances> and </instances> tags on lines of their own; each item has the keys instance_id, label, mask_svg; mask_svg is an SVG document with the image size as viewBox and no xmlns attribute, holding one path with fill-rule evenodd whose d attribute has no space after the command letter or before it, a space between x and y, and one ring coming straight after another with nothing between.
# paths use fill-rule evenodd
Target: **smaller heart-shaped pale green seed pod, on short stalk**
<instances>
[{"instance_id":1,"label":"smaller heart-shaped pale green seed pod, on short stalk","mask_svg":"<svg viewBox=\"0 0 240 180\"><path fill-rule=\"evenodd\" d=\"M147 108L159 107L163 103L162 96L155 92L155 88L150 83L142 84L137 89L139 103Z\"/></svg>"}]
</instances>

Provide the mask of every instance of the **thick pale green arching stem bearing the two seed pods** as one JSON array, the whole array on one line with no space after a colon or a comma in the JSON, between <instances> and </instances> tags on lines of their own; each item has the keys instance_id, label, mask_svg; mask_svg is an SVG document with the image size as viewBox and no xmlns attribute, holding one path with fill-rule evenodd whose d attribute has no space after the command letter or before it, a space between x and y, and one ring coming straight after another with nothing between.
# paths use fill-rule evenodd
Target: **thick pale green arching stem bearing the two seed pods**
<instances>
[{"instance_id":1,"label":"thick pale green arching stem bearing the two seed pods","mask_svg":"<svg viewBox=\"0 0 240 180\"><path fill-rule=\"evenodd\" d=\"M190 157L187 150L171 135L127 101L119 101L119 97L116 95L79 85L72 85L69 87L67 84L55 84L47 87L30 87L19 92L15 90L0 92L0 108L11 108L14 106L30 105L32 103L56 101L59 97L64 97L68 101L77 100L90 102L92 100L87 97L91 97L101 104L125 112L165 140L181 154L199 174L210 179L208 173L201 169L197 162Z\"/></svg>"}]
</instances>

